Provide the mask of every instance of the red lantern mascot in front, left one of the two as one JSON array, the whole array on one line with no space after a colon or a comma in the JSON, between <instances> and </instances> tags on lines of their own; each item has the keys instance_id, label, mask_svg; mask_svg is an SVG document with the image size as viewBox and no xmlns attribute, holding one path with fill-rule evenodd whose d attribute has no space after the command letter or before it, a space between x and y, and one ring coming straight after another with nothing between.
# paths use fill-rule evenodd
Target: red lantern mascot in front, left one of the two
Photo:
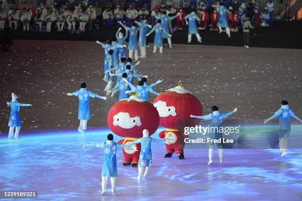
<instances>
[{"instance_id":1,"label":"red lantern mascot in front, left one of the two","mask_svg":"<svg viewBox=\"0 0 302 201\"><path fill-rule=\"evenodd\" d=\"M143 137L144 129L147 129L150 135L153 134L159 125L159 115L150 102L139 99L137 93L132 93L129 99L120 100L110 108L107 121L114 134L125 137L118 143L127 144ZM131 164L131 167L137 167L141 144L132 145L132 147L136 147L138 151L123 149L124 166Z\"/></svg>"}]
</instances>

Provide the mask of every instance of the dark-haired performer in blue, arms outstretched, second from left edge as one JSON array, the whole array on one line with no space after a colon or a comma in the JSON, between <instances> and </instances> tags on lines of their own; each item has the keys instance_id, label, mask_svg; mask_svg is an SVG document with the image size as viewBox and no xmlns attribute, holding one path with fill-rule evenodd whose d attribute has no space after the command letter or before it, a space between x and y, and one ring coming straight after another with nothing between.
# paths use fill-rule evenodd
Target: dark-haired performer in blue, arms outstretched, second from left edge
<instances>
[{"instance_id":1,"label":"dark-haired performer in blue, arms outstretched, second from left edge","mask_svg":"<svg viewBox=\"0 0 302 201\"><path fill-rule=\"evenodd\" d=\"M83 82L80 85L81 89L74 93L67 93L67 96L78 97L78 115L77 118L80 120L77 131L81 134L85 134L87 129L87 121L90 119L90 98L99 98L106 100L107 97L102 97L94 94L86 89L86 83Z\"/></svg>"}]
</instances>

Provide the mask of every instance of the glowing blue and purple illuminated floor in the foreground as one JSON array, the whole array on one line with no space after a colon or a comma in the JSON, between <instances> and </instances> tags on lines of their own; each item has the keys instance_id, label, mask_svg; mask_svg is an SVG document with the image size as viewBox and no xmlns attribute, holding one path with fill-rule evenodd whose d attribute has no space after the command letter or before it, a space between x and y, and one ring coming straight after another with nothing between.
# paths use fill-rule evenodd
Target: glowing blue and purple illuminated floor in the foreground
<instances>
[{"instance_id":1,"label":"glowing blue and purple illuminated floor in the foreground","mask_svg":"<svg viewBox=\"0 0 302 201\"><path fill-rule=\"evenodd\" d=\"M257 128L259 133L261 127ZM292 129L291 141L299 131L300 126ZM180 161L178 155L163 157L164 143L152 144L153 165L149 180L143 181L137 181L137 168L122 166L122 151L117 150L117 196L111 195L109 181L107 195L101 196L103 151L98 147L81 149L81 145L105 141L108 133L104 129L85 135L76 131L21 133L21 140L9 141L2 135L0 190L35 190L38 199L32 200L42 201L301 199L302 149L289 149L284 158L278 149L227 149L223 165L218 164L215 150L214 162L207 166L207 149L185 149L186 159ZM157 136L158 132L153 135ZM114 135L114 140L118 139Z\"/></svg>"}]
</instances>

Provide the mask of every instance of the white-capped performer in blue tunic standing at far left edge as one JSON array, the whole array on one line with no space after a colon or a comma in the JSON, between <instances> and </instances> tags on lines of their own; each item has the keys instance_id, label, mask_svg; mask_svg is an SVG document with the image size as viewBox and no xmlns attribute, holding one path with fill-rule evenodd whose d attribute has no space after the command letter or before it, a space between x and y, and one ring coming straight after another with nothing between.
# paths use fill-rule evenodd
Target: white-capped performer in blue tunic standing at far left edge
<instances>
[{"instance_id":1,"label":"white-capped performer in blue tunic standing at far left edge","mask_svg":"<svg viewBox=\"0 0 302 201\"><path fill-rule=\"evenodd\" d=\"M20 129L22 126L21 119L19 116L20 107L27 107L27 106L32 106L32 105L20 103L18 101L18 96L14 93L11 94L11 101L6 102L6 104L9 105L11 108L11 112L9 115L9 121L8 121L8 126L9 126L8 139L11 139L11 138L20 139L19 132L20 132ZM15 129L15 136L14 136L14 129Z\"/></svg>"}]
</instances>

